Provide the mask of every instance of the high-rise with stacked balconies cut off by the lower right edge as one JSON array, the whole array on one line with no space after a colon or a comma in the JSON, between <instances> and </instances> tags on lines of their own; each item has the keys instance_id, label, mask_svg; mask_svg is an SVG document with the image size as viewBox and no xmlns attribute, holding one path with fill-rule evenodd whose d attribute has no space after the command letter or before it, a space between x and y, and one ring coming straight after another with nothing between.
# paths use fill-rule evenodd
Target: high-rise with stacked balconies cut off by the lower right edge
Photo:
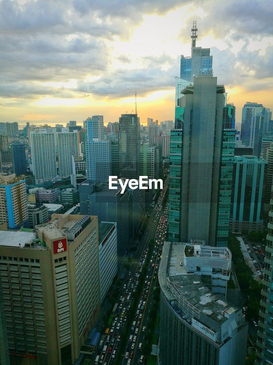
<instances>
[{"instance_id":1,"label":"high-rise with stacked balconies cut off by the lower right edge","mask_svg":"<svg viewBox=\"0 0 273 365\"><path fill-rule=\"evenodd\" d=\"M273 344L271 341L273 331L273 185L270 200L268 235L266 236L265 246L265 268L262 280L262 291L260 301L260 312L258 322L258 339L256 342L256 365L273 364Z\"/></svg>"}]
</instances>

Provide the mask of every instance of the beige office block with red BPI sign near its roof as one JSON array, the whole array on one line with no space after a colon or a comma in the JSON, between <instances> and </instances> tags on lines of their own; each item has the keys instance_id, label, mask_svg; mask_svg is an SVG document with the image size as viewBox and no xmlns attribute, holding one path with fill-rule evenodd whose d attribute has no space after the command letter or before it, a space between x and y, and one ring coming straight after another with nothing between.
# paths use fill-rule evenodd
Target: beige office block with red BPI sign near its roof
<instances>
[{"instance_id":1,"label":"beige office block with red BPI sign near its roof","mask_svg":"<svg viewBox=\"0 0 273 365\"><path fill-rule=\"evenodd\" d=\"M11 362L74 364L100 314L98 219L53 214L36 228L0 231Z\"/></svg>"}]
</instances>

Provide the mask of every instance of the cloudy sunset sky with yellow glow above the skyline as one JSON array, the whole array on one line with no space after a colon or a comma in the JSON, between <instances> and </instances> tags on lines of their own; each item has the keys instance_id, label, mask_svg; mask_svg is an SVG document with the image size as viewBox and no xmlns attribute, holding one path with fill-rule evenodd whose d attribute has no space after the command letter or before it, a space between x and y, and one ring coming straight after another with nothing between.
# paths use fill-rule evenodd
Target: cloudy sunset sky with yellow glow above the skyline
<instances>
[{"instance_id":1,"label":"cloudy sunset sky with yellow glow above the skyline","mask_svg":"<svg viewBox=\"0 0 273 365\"><path fill-rule=\"evenodd\" d=\"M273 110L272 0L0 0L0 122L174 120L180 57L210 47L241 122Z\"/></svg>"}]
</instances>

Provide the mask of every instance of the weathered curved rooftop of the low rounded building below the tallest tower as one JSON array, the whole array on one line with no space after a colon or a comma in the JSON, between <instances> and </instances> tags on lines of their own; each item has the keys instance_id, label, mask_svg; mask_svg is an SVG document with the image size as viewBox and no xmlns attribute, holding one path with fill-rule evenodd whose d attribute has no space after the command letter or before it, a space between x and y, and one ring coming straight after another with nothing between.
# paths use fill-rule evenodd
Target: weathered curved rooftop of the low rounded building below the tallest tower
<instances>
[{"instance_id":1,"label":"weathered curved rooftop of the low rounded building below the tallest tower","mask_svg":"<svg viewBox=\"0 0 273 365\"><path fill-rule=\"evenodd\" d=\"M239 309L212 293L202 283L199 275L187 272L183 263L184 250L187 249L187 245L190 244L165 242L158 273L161 289L179 316L187 318L188 322L193 317L198 319L202 317L203 323L216 330L216 327L228 319L227 314L237 312ZM200 250L200 246L198 246L190 245L191 257L197 255L194 251ZM209 253L212 255L213 251L216 251L216 260L217 257L222 256L227 261L231 258L229 250L222 247L202 246L201 251L203 251L204 257L207 257ZM200 254L198 256L201 257Z\"/></svg>"}]
</instances>

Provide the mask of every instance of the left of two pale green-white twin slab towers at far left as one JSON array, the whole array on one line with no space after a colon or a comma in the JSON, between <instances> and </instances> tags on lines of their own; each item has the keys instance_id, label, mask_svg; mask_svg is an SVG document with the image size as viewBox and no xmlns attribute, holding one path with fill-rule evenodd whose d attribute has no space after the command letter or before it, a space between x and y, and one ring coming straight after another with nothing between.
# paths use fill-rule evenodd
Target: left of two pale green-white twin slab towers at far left
<instances>
[{"instance_id":1,"label":"left of two pale green-white twin slab towers at far left","mask_svg":"<svg viewBox=\"0 0 273 365\"><path fill-rule=\"evenodd\" d=\"M31 131L30 145L32 173L35 176L36 184L52 181L57 175L55 134Z\"/></svg>"}]
</instances>

